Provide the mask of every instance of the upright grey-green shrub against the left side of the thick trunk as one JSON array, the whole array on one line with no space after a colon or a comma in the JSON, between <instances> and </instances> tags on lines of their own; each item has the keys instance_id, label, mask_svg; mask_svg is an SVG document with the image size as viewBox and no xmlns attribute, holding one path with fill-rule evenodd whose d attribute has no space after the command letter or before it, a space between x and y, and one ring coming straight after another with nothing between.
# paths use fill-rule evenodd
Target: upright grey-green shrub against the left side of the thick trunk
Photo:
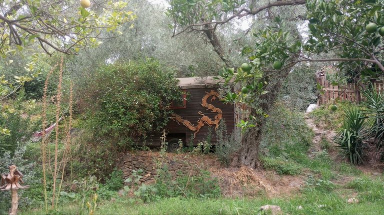
<instances>
[{"instance_id":1,"label":"upright grey-green shrub against the left side of the thick trunk","mask_svg":"<svg viewBox=\"0 0 384 215\"><path fill-rule=\"evenodd\" d=\"M240 147L240 138L238 129L234 129L232 133L228 134L225 120L221 119L220 125L216 130L216 146L214 151L221 164L229 166L233 153Z\"/></svg>"}]
</instances>

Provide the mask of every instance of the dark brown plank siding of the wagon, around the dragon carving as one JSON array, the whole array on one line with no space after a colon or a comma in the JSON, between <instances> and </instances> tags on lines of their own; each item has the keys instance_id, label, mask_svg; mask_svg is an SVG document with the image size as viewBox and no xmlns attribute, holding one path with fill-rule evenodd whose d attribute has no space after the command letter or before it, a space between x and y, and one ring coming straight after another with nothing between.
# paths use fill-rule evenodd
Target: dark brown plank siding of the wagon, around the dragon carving
<instances>
[{"instance_id":1,"label":"dark brown plank siding of the wagon, around the dragon carving","mask_svg":"<svg viewBox=\"0 0 384 215\"><path fill-rule=\"evenodd\" d=\"M206 110L205 107L201 106L201 100L206 94L206 92L210 92L210 90L217 91L217 88L192 88L186 89L189 93L187 96L189 99L186 101L186 108L184 109L174 109L173 112L178 114L184 120L190 121L194 126L197 125L197 121L201 118L201 115L198 114L201 111L205 116L208 116L211 120L214 120L214 116L217 113L212 113L210 110ZM221 109L222 111L222 119L225 119L227 132L230 133L234 129L234 106L232 104L224 104L219 99L215 99L214 101L210 101L212 97L207 99L208 104L212 104L214 107ZM221 122L220 120L220 122ZM208 125L204 125L200 128L199 132L196 133L196 137L193 139L193 145L197 145L199 141L206 139L206 135L208 134L208 129L211 129L212 134L212 144L215 144L216 134L214 131L215 126L209 127ZM165 131L167 133L167 141L172 138L178 138L183 141L183 144L187 144L193 135L194 131L189 130L186 126L180 123L170 120L169 123L165 126ZM154 146L158 146L160 144L160 135L158 133L151 134L149 138L146 139L146 142L152 144Z\"/></svg>"}]
</instances>

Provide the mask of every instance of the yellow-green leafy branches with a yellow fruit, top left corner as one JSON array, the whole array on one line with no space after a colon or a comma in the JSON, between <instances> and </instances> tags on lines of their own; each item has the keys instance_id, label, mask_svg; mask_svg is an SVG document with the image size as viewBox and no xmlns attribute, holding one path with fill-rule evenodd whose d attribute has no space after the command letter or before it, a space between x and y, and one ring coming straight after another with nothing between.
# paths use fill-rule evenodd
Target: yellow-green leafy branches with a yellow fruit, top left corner
<instances>
[{"instance_id":1,"label":"yellow-green leafy branches with a yellow fruit, top left corner","mask_svg":"<svg viewBox=\"0 0 384 215\"><path fill-rule=\"evenodd\" d=\"M116 31L120 23L132 21L126 2L105 1L85 9L74 1L2 1L0 15L0 55L5 58L23 48L40 47L51 55L54 51L75 53L87 45L97 46L101 31ZM103 9L100 9L103 8ZM63 39L63 37L66 37Z\"/></svg>"}]
</instances>

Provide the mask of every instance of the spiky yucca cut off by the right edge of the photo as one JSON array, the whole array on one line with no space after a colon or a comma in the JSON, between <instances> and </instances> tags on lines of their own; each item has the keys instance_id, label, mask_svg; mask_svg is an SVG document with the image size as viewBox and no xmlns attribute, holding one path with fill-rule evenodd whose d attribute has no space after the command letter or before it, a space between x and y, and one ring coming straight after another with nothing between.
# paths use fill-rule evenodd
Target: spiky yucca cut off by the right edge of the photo
<instances>
[{"instance_id":1,"label":"spiky yucca cut off by the right edge of the photo","mask_svg":"<svg viewBox=\"0 0 384 215\"><path fill-rule=\"evenodd\" d=\"M365 98L362 105L366 107L364 114L366 118L372 119L372 126L367 129L366 135L373 138L377 149L384 147L384 94L371 86L370 89L363 90ZM383 155L381 155L381 158Z\"/></svg>"}]
</instances>

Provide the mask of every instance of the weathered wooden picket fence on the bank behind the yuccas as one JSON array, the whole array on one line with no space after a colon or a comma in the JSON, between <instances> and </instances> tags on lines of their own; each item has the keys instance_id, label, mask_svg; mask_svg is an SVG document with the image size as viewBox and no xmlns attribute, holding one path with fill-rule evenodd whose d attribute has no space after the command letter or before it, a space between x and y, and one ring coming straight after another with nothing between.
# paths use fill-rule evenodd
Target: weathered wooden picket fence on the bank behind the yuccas
<instances>
[{"instance_id":1,"label":"weathered wooden picket fence on the bank behind the yuccas","mask_svg":"<svg viewBox=\"0 0 384 215\"><path fill-rule=\"evenodd\" d=\"M325 76L320 76L316 79L316 82L321 86L322 93L320 93L317 103L319 105L328 103L329 101L347 100L351 102L361 101L361 93L358 84L348 83L346 86L338 87L333 86L325 79ZM374 82L374 87L377 90L384 91L384 82Z\"/></svg>"}]
</instances>

